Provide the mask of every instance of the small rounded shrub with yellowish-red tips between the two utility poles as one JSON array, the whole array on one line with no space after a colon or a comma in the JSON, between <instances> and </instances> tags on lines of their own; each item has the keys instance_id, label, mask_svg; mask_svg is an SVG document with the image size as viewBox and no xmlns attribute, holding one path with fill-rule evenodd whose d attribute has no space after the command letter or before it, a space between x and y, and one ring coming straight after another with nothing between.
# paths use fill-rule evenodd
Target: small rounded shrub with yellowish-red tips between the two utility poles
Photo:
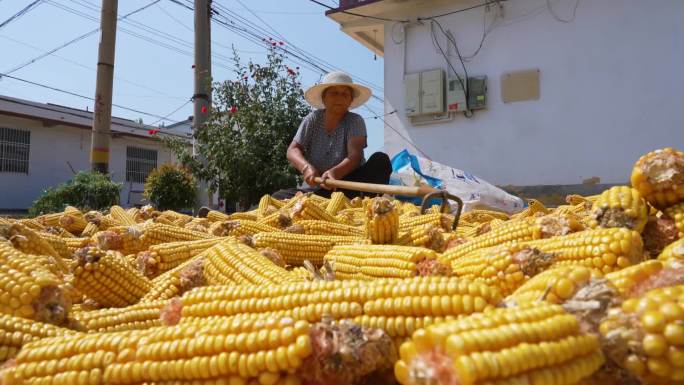
<instances>
[{"instance_id":1,"label":"small rounded shrub with yellowish-red tips between the two utility poles","mask_svg":"<svg viewBox=\"0 0 684 385\"><path fill-rule=\"evenodd\" d=\"M195 205L195 178L184 168L163 164L147 177L144 196L158 210L192 208Z\"/></svg>"}]
</instances>

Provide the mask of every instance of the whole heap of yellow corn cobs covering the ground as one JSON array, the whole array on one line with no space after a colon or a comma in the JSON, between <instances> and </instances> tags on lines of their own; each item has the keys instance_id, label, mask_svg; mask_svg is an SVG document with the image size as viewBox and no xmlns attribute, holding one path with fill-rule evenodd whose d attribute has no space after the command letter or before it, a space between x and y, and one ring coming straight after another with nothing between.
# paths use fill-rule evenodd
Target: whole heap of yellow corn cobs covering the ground
<instances>
[{"instance_id":1,"label":"whole heap of yellow corn cobs covering the ground","mask_svg":"<svg viewBox=\"0 0 684 385\"><path fill-rule=\"evenodd\" d=\"M684 153L517 214L0 218L0 384L684 384Z\"/></svg>"}]
</instances>

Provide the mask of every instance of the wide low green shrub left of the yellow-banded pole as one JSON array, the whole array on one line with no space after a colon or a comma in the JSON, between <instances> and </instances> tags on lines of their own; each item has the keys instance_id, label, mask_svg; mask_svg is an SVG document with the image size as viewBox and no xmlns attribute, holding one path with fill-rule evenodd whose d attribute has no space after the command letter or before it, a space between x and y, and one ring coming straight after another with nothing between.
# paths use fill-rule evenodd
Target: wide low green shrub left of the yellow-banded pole
<instances>
[{"instance_id":1,"label":"wide low green shrub left of the yellow-banded pole","mask_svg":"<svg viewBox=\"0 0 684 385\"><path fill-rule=\"evenodd\" d=\"M121 184L112 182L107 175L81 171L57 187L48 187L33 202L29 215L55 213L66 206L78 207L83 211L105 210L119 204Z\"/></svg>"}]
</instances>

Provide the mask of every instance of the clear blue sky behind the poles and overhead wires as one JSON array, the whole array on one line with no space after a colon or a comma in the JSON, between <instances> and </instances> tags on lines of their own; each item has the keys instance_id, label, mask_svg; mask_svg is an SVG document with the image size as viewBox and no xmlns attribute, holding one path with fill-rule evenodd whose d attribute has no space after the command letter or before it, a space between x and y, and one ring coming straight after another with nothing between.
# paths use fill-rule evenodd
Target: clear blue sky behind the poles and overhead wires
<instances>
[{"instance_id":1,"label":"clear blue sky behind the poles and overhead wires","mask_svg":"<svg viewBox=\"0 0 684 385\"><path fill-rule=\"evenodd\" d=\"M0 23L31 2L32 0L0 0ZM119 16L151 2L152 0L119 0ZM187 3L187 0L181 2ZM330 5L336 3L333 0L323 2ZM242 17L281 40L273 31L275 30L296 47L349 72L357 78L355 80L363 79L373 83L379 87L379 90L374 90L374 94L382 98L383 59L378 57L374 60L372 52L342 33L336 23L324 16L325 9L320 5L308 0L214 0L214 4L218 9L224 10L223 17ZM43 0L30 12L0 28L0 72L7 73L46 51L99 27L100 5L99 0ZM193 93L192 29L192 12L170 0L161 0L128 19L119 21L114 103L165 117L187 102ZM215 80L233 79L235 76L230 61L226 60L232 57L231 45L240 50L243 61L249 58L257 62L264 61L266 49L263 45L248 41L216 23L212 24L211 33ZM95 93L98 41L99 32L18 69L11 75L92 97ZM318 72L304 68L294 60L290 65L302 67L302 81L305 86L319 80ZM92 110L92 101L7 77L0 79L0 94L75 108L88 107ZM378 115L383 113L380 100L371 99L368 107ZM357 112L368 117L366 125L369 155L382 147L382 121L371 118L373 113L367 109L360 108ZM147 124L158 120L153 116L116 107L113 114L129 119L142 118ZM192 105L188 103L168 116L166 124L184 120L191 114Z\"/></svg>"}]
</instances>

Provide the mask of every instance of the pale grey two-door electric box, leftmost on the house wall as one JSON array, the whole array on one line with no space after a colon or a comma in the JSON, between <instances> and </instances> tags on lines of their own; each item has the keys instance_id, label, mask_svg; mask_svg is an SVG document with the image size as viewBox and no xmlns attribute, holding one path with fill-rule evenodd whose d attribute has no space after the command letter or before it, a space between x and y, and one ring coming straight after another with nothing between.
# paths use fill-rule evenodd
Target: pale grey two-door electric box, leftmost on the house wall
<instances>
[{"instance_id":1,"label":"pale grey two-door electric box, leftmost on the house wall","mask_svg":"<svg viewBox=\"0 0 684 385\"><path fill-rule=\"evenodd\" d=\"M406 87L406 116L444 113L444 71L441 69L408 74Z\"/></svg>"}]
</instances>

